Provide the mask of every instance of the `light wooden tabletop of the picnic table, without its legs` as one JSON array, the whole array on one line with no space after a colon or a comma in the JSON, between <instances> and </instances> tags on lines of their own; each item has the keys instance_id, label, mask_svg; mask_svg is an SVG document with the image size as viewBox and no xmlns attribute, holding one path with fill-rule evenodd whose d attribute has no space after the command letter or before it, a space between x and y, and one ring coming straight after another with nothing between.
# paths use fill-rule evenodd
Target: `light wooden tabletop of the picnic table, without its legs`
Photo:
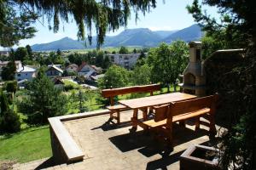
<instances>
[{"instance_id":1,"label":"light wooden tabletop of the picnic table, without its legs","mask_svg":"<svg viewBox=\"0 0 256 170\"><path fill-rule=\"evenodd\" d=\"M192 94L183 94L180 92L176 92L172 94L160 94L144 98L120 100L119 104L125 105L131 109L139 109L154 105L165 105L174 101L180 101L184 99L194 99L196 97L197 96Z\"/></svg>"}]
</instances>

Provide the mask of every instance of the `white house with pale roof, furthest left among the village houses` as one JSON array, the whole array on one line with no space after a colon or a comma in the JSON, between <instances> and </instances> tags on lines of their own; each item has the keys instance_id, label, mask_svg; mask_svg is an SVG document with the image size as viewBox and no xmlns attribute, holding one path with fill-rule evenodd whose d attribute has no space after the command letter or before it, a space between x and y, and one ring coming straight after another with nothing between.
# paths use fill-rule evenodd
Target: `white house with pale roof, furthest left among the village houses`
<instances>
[{"instance_id":1,"label":"white house with pale roof, furthest left among the village houses","mask_svg":"<svg viewBox=\"0 0 256 170\"><path fill-rule=\"evenodd\" d=\"M36 77L36 69L32 68L31 66L22 66L19 69L17 69L15 73L15 79L17 81L21 80L32 80L32 78Z\"/></svg>"}]
</instances>

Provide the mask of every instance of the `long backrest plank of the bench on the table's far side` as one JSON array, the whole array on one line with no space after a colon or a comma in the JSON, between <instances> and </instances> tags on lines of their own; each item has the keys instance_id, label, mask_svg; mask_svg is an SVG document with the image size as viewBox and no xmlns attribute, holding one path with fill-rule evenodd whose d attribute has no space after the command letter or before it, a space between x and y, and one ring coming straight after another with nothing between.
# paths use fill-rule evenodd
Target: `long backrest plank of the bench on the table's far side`
<instances>
[{"instance_id":1,"label":"long backrest plank of the bench on the table's far side","mask_svg":"<svg viewBox=\"0 0 256 170\"><path fill-rule=\"evenodd\" d=\"M147 93L160 90L160 84L149 84L145 86L133 86L125 88L113 88L102 90L102 97L109 98L121 94Z\"/></svg>"}]
</instances>

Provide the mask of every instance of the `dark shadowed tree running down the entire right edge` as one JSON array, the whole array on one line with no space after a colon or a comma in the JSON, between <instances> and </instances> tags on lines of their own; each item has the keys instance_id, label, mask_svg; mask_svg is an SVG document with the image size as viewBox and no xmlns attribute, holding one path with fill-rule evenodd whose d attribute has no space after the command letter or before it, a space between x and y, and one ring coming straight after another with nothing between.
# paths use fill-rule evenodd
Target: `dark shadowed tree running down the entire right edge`
<instances>
[{"instance_id":1,"label":"dark shadowed tree running down the entire right edge","mask_svg":"<svg viewBox=\"0 0 256 170\"><path fill-rule=\"evenodd\" d=\"M220 22L206 12L203 13L201 4L217 7L221 15ZM221 46L247 50L243 62L229 73L232 77L237 77L236 85L232 89L227 88L230 84L222 87L225 89L222 100L226 98L222 110L227 107L229 111L226 109L224 112L230 112L232 117L229 131L224 133L221 144L218 145L221 146L220 160L223 169L253 169L256 167L256 20L253 17L256 3L252 0L203 0L201 4L194 0L187 8L207 32L207 39L203 40L207 40L207 48L214 50ZM206 57L206 54L203 55Z\"/></svg>"}]
</instances>

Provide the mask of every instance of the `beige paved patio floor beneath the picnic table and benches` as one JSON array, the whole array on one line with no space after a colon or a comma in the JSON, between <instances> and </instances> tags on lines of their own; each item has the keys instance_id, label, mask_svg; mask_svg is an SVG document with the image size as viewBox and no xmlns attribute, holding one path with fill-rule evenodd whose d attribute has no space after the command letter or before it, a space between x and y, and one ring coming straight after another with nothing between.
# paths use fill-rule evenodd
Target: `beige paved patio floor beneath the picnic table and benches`
<instances>
[{"instance_id":1,"label":"beige paved patio floor beneath the picnic table and benches","mask_svg":"<svg viewBox=\"0 0 256 170\"><path fill-rule=\"evenodd\" d=\"M142 118L143 114L138 115ZM15 165L15 169L179 169L179 156L191 144L213 144L207 136L207 127L201 125L195 132L193 122L188 122L187 128L176 125L174 150L166 156L162 142L143 133L142 128L138 127L135 134L129 133L131 116L132 111L123 113L119 126L108 122L108 113L62 122L83 151L84 160L55 165L49 158Z\"/></svg>"}]
</instances>

